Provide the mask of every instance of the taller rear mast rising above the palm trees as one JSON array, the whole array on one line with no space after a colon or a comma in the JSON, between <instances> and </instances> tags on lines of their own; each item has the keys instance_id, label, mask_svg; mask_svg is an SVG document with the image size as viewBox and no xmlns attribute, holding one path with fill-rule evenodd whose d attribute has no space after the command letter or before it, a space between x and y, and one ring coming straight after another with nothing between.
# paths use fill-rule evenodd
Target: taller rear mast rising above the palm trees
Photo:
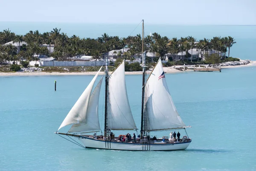
<instances>
[{"instance_id":1,"label":"taller rear mast rising above the palm trees","mask_svg":"<svg viewBox=\"0 0 256 171\"><path fill-rule=\"evenodd\" d=\"M142 68L143 68L143 78L142 78L142 100L141 100L141 126L140 126L140 137L143 137L143 122L144 122L144 95L145 95L145 63L146 55L144 53L144 20L142 20Z\"/></svg>"}]
</instances>

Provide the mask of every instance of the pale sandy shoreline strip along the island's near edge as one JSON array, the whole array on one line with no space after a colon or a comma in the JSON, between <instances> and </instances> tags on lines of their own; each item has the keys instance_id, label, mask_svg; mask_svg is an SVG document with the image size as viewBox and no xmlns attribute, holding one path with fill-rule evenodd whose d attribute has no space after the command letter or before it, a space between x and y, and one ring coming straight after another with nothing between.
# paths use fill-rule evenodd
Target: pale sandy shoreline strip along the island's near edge
<instances>
[{"instance_id":1,"label":"pale sandy shoreline strip along the island's near edge","mask_svg":"<svg viewBox=\"0 0 256 171\"><path fill-rule=\"evenodd\" d=\"M204 66L204 65L202 65ZM222 66L222 69L229 69L229 68L239 68L239 67L256 67L256 61L251 61L247 65L230 65L230 66ZM183 67L183 66L172 66L172 67L163 67L163 70L165 73L178 73L178 72L184 72L180 70L176 70L173 67ZM193 70L186 70L185 72L191 72ZM59 75L95 75L97 72L0 72L0 76L59 76ZM100 74L103 74L104 72L100 72ZM147 74L150 74L151 70L147 71ZM131 71L131 72L125 72L125 75L142 75L142 71Z\"/></svg>"}]
</instances>

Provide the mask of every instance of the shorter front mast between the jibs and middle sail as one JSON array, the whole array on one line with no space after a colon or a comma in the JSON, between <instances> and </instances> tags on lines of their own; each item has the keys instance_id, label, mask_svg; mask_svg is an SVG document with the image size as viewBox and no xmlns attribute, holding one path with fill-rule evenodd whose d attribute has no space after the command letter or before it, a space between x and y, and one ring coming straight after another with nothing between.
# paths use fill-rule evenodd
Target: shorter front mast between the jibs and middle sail
<instances>
[{"instance_id":1,"label":"shorter front mast between the jibs and middle sail","mask_svg":"<svg viewBox=\"0 0 256 171\"><path fill-rule=\"evenodd\" d=\"M108 56L106 58L106 75L105 75L105 123L104 123L104 136L107 136L108 129Z\"/></svg>"}]
</instances>

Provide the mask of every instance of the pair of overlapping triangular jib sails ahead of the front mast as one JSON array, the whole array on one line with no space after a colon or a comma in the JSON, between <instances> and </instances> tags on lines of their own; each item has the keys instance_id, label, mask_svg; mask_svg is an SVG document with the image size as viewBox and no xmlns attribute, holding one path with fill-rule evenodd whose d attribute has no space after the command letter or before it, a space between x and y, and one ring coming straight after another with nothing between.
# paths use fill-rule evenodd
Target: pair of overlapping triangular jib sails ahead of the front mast
<instances>
[{"instance_id":1,"label":"pair of overlapping triangular jib sails ahead of the front mast","mask_svg":"<svg viewBox=\"0 0 256 171\"><path fill-rule=\"evenodd\" d=\"M94 89L93 85L99 75L99 69L97 74L93 77L90 84L86 87L84 92L81 94L76 104L72 107L70 112L67 114L66 118L62 122L61 129L64 126L73 124L69 132L81 132L87 130L100 130L99 127L99 117L98 117L98 103L99 103L99 92L102 84L102 79L99 84ZM87 120L90 119L90 120ZM88 121L88 122L87 122Z\"/></svg>"}]
</instances>

